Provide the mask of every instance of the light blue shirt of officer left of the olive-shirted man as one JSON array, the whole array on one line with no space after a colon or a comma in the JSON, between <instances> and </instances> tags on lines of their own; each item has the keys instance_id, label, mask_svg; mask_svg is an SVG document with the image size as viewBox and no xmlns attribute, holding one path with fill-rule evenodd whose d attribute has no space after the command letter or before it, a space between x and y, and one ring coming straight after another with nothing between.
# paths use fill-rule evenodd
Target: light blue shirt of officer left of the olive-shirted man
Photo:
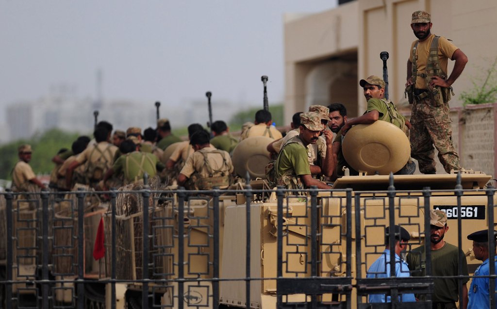
<instances>
[{"instance_id":1,"label":"light blue shirt of officer left of the olive-shirted man","mask_svg":"<svg viewBox=\"0 0 497 309\"><path fill-rule=\"evenodd\" d=\"M395 275L397 277L410 277L407 263L395 254ZM369 267L366 278L389 278L390 277L390 250L385 249L381 256ZM403 294L399 296L399 302L415 302L414 294ZM385 303L385 294L370 294L370 303ZM386 303L390 303L387 296Z\"/></svg>"}]
</instances>

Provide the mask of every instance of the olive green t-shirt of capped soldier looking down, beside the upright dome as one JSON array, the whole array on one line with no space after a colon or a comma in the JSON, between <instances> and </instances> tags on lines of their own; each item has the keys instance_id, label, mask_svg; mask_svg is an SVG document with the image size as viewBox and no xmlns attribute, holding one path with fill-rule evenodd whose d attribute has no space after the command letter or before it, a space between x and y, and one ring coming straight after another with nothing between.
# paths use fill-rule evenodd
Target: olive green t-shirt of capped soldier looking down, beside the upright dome
<instances>
[{"instance_id":1,"label":"olive green t-shirt of capped soldier looking down, beside the upright dome","mask_svg":"<svg viewBox=\"0 0 497 309\"><path fill-rule=\"evenodd\" d=\"M284 175L289 170L293 170L293 175L310 175L309 160L307 158L307 149L298 143L291 143L283 146L280 154L276 177Z\"/></svg>"}]
</instances>

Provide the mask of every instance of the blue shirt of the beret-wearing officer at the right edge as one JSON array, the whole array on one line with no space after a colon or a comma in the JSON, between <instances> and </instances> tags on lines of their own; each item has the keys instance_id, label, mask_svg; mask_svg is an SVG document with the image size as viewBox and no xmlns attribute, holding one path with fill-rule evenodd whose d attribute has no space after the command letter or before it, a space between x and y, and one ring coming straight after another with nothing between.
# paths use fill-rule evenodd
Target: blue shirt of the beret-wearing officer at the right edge
<instances>
[{"instance_id":1,"label":"blue shirt of the beret-wearing officer at the right edge","mask_svg":"<svg viewBox=\"0 0 497 309\"><path fill-rule=\"evenodd\" d=\"M496 257L496 270L497 270L497 257ZM475 276L489 276L490 266L489 259L486 259L476 271ZM496 280L497 287L497 280ZM473 278L469 287L468 296L468 309L482 309L490 308L490 280L489 278Z\"/></svg>"}]
</instances>

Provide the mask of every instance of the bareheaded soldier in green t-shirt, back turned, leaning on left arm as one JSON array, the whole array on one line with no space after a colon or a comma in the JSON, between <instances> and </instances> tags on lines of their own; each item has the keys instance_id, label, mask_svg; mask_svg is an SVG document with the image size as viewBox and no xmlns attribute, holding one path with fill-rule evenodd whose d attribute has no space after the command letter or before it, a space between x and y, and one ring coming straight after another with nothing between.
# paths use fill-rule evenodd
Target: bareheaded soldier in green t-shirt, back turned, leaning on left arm
<instances>
[{"instance_id":1,"label":"bareheaded soldier in green t-shirt, back turned, leaning on left arm","mask_svg":"<svg viewBox=\"0 0 497 309\"><path fill-rule=\"evenodd\" d=\"M114 162L112 167L107 170L103 177L103 188L107 189L107 179L112 175L124 175L124 184L143 181L144 173L149 177L154 177L157 174L157 167L164 167L160 163L157 156L151 153L144 153L138 151L138 145L134 144L132 140L122 142L120 150L122 155ZM162 164L162 165L161 165Z\"/></svg>"}]
</instances>

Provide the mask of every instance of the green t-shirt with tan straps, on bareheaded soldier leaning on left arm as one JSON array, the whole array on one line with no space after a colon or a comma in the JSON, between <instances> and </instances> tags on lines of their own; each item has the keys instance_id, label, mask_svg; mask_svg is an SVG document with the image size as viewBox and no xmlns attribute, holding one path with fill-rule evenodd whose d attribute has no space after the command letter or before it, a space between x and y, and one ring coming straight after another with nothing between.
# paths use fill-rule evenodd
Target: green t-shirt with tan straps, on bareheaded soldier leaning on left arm
<instances>
[{"instance_id":1,"label":"green t-shirt with tan straps, on bareheaded soldier leaning on left arm","mask_svg":"<svg viewBox=\"0 0 497 309\"><path fill-rule=\"evenodd\" d=\"M143 163L142 163L143 162ZM150 177L157 174L157 156L150 153L132 152L123 154L112 165L115 174L123 173L127 182L142 179L147 172Z\"/></svg>"}]
</instances>

